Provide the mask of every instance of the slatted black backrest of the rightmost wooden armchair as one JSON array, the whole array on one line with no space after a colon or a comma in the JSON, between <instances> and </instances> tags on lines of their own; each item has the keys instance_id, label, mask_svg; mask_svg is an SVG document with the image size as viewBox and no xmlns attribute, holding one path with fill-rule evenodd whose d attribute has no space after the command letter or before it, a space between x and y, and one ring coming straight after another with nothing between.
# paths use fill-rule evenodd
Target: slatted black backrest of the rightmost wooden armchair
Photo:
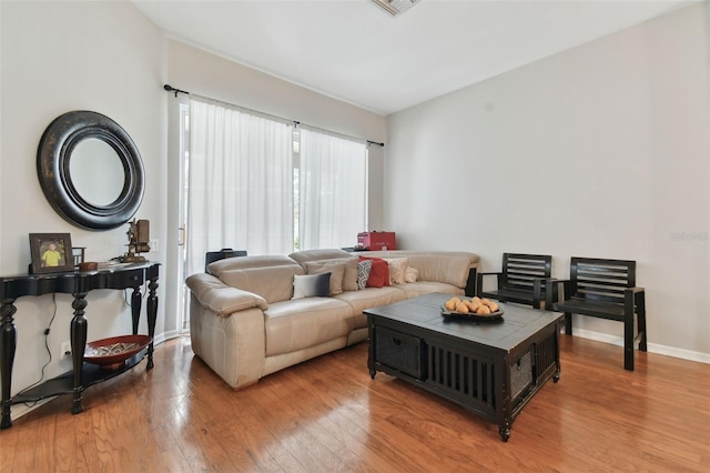
<instances>
[{"instance_id":1,"label":"slatted black backrest of the rightmost wooden armchair","mask_svg":"<svg viewBox=\"0 0 710 473\"><path fill-rule=\"evenodd\" d=\"M623 304L623 290L636 286L636 261L572 258L569 280L572 298Z\"/></svg>"}]
</instances>

